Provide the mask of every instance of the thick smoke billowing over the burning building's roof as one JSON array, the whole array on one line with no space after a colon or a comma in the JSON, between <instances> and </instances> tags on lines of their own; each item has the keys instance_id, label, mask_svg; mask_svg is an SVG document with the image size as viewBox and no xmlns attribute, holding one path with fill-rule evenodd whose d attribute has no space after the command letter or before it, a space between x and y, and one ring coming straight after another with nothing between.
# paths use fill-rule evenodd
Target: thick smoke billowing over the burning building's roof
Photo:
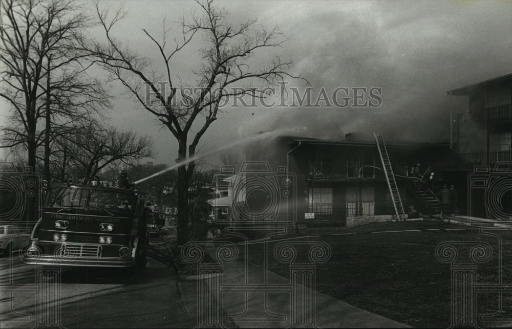
<instances>
[{"instance_id":1,"label":"thick smoke billowing over the burning building's roof","mask_svg":"<svg viewBox=\"0 0 512 329\"><path fill-rule=\"evenodd\" d=\"M382 105L265 109L240 123L240 137L306 127L306 135L318 138L381 131L394 139L447 142L450 107L465 112L466 100L449 100L446 91L512 67L510 2L302 3L297 11L308 12L302 15L294 14L294 4L278 6L288 9L286 27L293 31L284 53L306 68L315 91L377 86Z\"/></svg>"}]
</instances>

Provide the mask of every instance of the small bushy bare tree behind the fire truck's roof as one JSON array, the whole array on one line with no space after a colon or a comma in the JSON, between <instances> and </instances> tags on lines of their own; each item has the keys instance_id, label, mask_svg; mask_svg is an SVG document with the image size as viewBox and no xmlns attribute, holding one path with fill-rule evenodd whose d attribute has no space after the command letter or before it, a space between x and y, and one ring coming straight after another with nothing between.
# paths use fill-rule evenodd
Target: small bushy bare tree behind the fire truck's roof
<instances>
[{"instance_id":1,"label":"small bushy bare tree behind the fire truck's roof","mask_svg":"<svg viewBox=\"0 0 512 329\"><path fill-rule=\"evenodd\" d=\"M84 183L115 161L138 161L154 155L149 137L99 124L75 127L75 133L62 136L59 145L69 163L83 172Z\"/></svg>"}]
</instances>

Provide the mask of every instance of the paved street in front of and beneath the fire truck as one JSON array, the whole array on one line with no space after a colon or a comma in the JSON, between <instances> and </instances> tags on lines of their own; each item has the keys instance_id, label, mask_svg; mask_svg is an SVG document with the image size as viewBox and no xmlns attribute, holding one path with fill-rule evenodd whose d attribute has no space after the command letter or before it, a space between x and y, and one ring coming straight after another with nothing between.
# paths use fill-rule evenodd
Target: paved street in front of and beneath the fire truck
<instances>
[{"instance_id":1,"label":"paved street in front of and beneath the fire truck","mask_svg":"<svg viewBox=\"0 0 512 329\"><path fill-rule=\"evenodd\" d=\"M12 275L9 269L12 269ZM0 321L2 328L35 327L35 269L15 255L0 258ZM193 317L179 302L173 270L150 259L142 273L114 279L106 273L87 275L62 271L62 327L191 327Z\"/></svg>"}]
</instances>

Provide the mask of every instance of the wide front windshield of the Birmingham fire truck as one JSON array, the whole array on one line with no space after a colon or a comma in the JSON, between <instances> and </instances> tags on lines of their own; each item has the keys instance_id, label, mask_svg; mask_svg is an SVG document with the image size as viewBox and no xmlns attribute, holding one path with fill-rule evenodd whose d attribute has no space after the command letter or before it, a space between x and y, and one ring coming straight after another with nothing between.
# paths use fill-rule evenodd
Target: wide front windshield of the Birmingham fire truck
<instances>
[{"instance_id":1,"label":"wide front windshield of the Birmingham fire truck","mask_svg":"<svg viewBox=\"0 0 512 329\"><path fill-rule=\"evenodd\" d=\"M129 210L132 206L130 193L86 188L51 188L46 207L49 208L99 208L116 211Z\"/></svg>"}]
</instances>

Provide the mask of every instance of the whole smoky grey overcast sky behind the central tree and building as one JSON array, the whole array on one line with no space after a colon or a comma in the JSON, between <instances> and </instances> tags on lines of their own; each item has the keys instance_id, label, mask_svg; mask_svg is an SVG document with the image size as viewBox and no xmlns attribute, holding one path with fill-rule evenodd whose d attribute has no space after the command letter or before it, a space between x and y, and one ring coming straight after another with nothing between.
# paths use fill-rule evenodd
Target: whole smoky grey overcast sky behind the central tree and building
<instances>
[{"instance_id":1,"label":"whole smoky grey overcast sky behind the central tree and building","mask_svg":"<svg viewBox=\"0 0 512 329\"><path fill-rule=\"evenodd\" d=\"M253 54L265 62L279 54L304 71L315 92L338 87L381 88L379 107L224 108L200 145L214 150L259 131L301 128L309 136L343 137L354 131L382 131L386 137L425 141L449 140L446 91L512 72L511 1L222 1L233 21L258 17L275 24L291 39L275 53ZM86 2L86 4L88 4ZM163 17L179 20L197 10L191 1L102 1L105 7L124 4L126 16L114 31L142 55L155 58L157 49L141 29L158 35ZM92 6L92 4L91 4ZM94 35L94 34L93 34ZM189 65L200 44L184 49L174 70L191 81ZM304 87L300 81L291 84ZM174 164L177 143L127 95L110 85L117 106L112 124L154 137L155 163ZM463 99L462 99L463 100ZM323 104L323 103L322 103ZM455 112L465 103L452 100ZM202 118L200 118L202 121ZM304 130L306 129L306 130ZM215 157L213 157L215 158ZM209 162L216 162L212 157Z\"/></svg>"}]
</instances>

